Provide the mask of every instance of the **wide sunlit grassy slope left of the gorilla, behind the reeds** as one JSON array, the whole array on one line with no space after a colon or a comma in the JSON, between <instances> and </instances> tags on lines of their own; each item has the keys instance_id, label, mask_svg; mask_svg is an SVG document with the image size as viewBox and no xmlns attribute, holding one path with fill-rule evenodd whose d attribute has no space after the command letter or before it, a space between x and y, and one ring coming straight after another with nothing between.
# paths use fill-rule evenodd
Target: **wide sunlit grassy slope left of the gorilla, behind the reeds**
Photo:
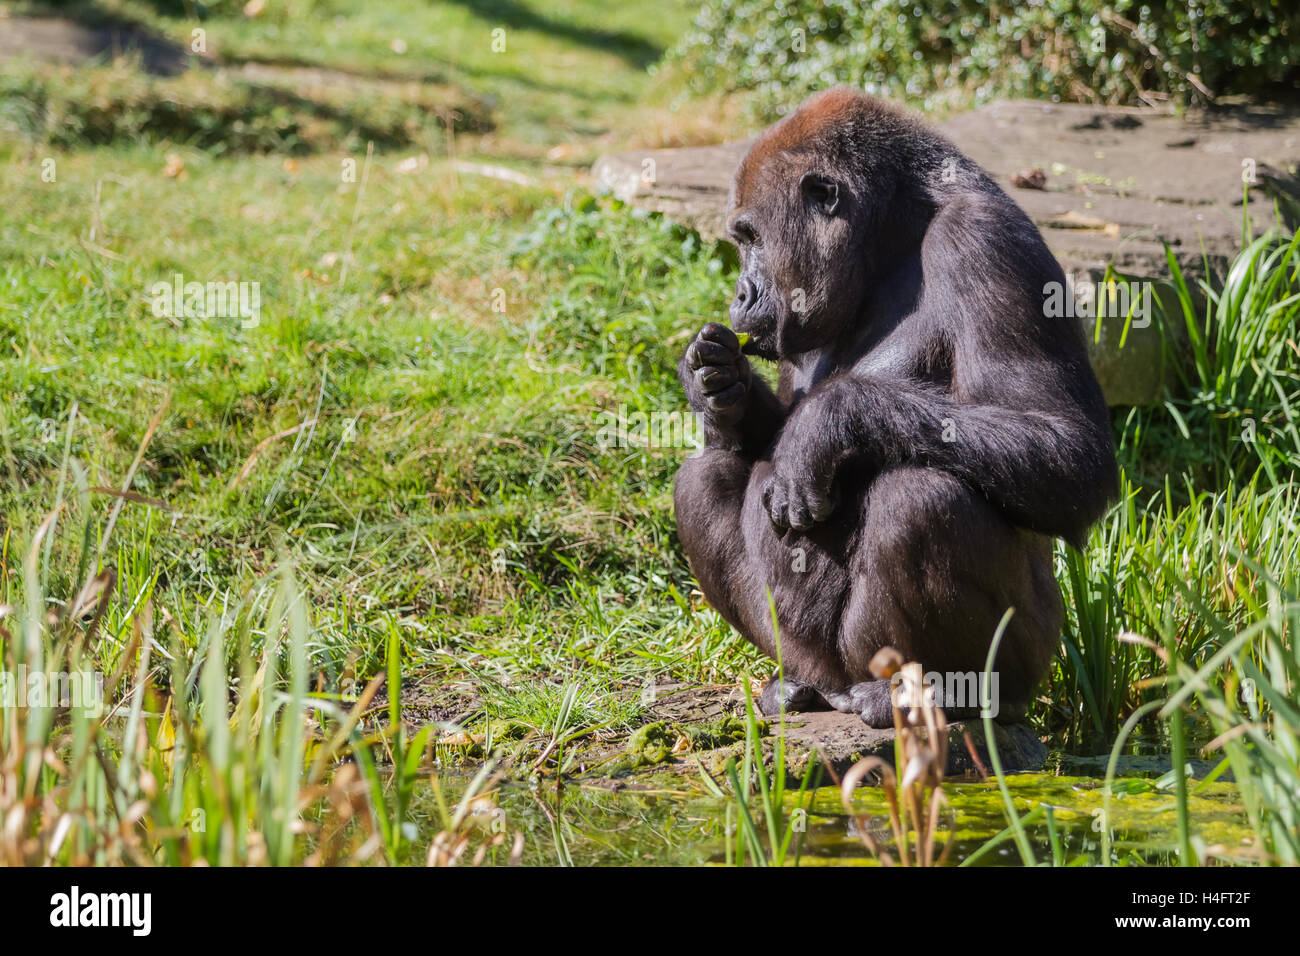
<instances>
[{"instance_id":1,"label":"wide sunlit grassy slope left of the gorilla, behind the reeds","mask_svg":"<svg viewBox=\"0 0 1300 956\"><path fill-rule=\"evenodd\" d=\"M373 666L395 619L437 667L447 648L556 671L630 653L718 676L698 641L720 627L681 640L699 632L668 499L685 450L597 433L619 403L680 407L670 355L724 302L720 260L658 219L393 165L374 161L360 204L332 160L286 174L195 153L178 182L147 152L70 155L40 190L23 186L35 160L6 168L14 553L65 445L92 486L117 486L165 405L130 490L168 510L126 505L105 558L178 620L247 592L283 542L332 666ZM148 287L173 272L263 282L260 325L152 315ZM74 588L58 559L74 528L56 528L52 592Z\"/></svg>"}]
</instances>

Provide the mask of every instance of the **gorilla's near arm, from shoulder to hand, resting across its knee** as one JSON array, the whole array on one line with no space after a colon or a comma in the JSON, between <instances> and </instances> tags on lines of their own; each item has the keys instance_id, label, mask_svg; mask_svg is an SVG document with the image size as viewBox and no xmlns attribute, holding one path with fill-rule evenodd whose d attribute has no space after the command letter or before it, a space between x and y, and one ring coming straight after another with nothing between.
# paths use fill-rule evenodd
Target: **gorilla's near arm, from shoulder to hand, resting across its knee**
<instances>
[{"instance_id":1,"label":"gorilla's near arm, from shoulder to hand, resting across its knee","mask_svg":"<svg viewBox=\"0 0 1300 956\"><path fill-rule=\"evenodd\" d=\"M1044 282L1063 280L1060 267L1010 200L982 196L936 216L920 254L927 293L898 332L923 351L942 330L952 390L900 372L819 382L790 411L772 459L764 503L774 522L822 520L836 470L861 459L941 468L1013 523L1078 544L1117 476L1078 329L1023 306L1041 302Z\"/></svg>"}]
</instances>

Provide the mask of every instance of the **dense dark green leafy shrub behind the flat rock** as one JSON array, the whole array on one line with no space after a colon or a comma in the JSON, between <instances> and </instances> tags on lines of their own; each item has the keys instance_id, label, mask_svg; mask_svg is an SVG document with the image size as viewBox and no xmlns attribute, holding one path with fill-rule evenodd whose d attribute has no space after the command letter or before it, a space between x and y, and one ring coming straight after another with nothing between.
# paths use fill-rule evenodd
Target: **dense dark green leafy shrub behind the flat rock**
<instances>
[{"instance_id":1,"label":"dense dark green leafy shrub behind the flat rock","mask_svg":"<svg viewBox=\"0 0 1300 956\"><path fill-rule=\"evenodd\" d=\"M1294 82L1294 0L708 0L670 55L696 91L786 112L833 83L911 100L1204 101Z\"/></svg>"}]
</instances>

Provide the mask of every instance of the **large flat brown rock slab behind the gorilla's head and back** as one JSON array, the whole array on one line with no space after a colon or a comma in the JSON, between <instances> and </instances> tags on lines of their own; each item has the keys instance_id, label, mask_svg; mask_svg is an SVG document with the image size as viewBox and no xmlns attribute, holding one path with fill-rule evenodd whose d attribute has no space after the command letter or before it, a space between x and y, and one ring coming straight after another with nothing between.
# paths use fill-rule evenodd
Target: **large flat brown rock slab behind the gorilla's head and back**
<instances>
[{"instance_id":1,"label":"large flat brown rock slab behind the gorilla's head and back","mask_svg":"<svg viewBox=\"0 0 1300 956\"><path fill-rule=\"evenodd\" d=\"M1011 100L939 127L1020 204L1080 282L1100 280L1108 264L1128 277L1166 280L1165 243L1186 273L1202 276L1206 265L1222 273L1240 248L1244 217L1253 233L1277 219L1261 189L1243 207L1245 179L1261 169L1286 179L1300 161L1300 112L1265 107L1178 117ZM612 153L597 160L592 176L629 203L725 238L731 177L751 143ZM1044 189L1013 185L1013 176L1030 169L1045 173ZM1173 375L1160 323L1130 329L1123 347L1119 320L1086 324L1106 399L1158 401Z\"/></svg>"}]
</instances>

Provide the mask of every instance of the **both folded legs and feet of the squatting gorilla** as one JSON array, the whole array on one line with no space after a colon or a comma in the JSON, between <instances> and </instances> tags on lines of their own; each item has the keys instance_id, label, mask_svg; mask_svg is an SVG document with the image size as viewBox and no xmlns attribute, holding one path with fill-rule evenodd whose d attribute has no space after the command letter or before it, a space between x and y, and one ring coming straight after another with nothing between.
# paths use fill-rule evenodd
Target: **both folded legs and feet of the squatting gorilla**
<instances>
[{"instance_id":1,"label":"both folded legs and feet of the squatting gorilla","mask_svg":"<svg viewBox=\"0 0 1300 956\"><path fill-rule=\"evenodd\" d=\"M888 682L871 675L885 646L937 674L952 718L978 713L979 675L997 623L1015 615L994 662L998 719L1017 719L1060 639L1061 596L1046 538L1014 528L946 472L893 468L811 531L777 532L760 501L767 462L706 449L677 475L677 533L705 596L776 658L784 680L764 713L826 705L893 726ZM848 477L848 476L846 476ZM863 479L866 483L868 479Z\"/></svg>"}]
</instances>

